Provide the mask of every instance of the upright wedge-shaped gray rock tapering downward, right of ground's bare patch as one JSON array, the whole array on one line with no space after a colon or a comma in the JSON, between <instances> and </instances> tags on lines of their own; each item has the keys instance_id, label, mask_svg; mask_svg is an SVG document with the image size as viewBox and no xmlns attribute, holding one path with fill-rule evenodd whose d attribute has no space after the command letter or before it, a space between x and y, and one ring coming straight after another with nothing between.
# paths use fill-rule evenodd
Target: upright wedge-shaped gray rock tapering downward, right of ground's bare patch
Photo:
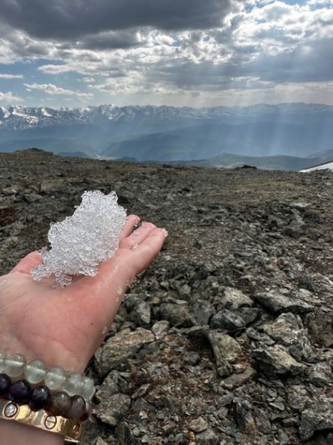
<instances>
[{"instance_id":1,"label":"upright wedge-shaped gray rock tapering downward, right of ground's bare patch","mask_svg":"<svg viewBox=\"0 0 333 445\"><path fill-rule=\"evenodd\" d=\"M231 364L237 361L242 352L241 346L230 335L217 331L209 331L208 338L213 348L217 371L220 377L227 377L232 370Z\"/></svg>"}]
</instances>

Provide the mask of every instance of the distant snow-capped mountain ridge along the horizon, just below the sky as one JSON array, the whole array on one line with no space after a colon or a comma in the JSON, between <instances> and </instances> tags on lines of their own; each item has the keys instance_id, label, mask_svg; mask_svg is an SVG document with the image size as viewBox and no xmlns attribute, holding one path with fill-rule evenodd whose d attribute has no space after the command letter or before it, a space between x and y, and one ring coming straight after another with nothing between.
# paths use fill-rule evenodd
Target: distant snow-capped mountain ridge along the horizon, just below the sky
<instances>
[{"instance_id":1,"label":"distant snow-capped mountain ridge along the horizon, just below the sky","mask_svg":"<svg viewBox=\"0 0 333 445\"><path fill-rule=\"evenodd\" d=\"M258 104L248 107L169 107L101 105L98 107L66 108L24 107L11 105L0 107L0 130L20 131L31 128L59 127L68 125L104 125L117 120L196 120L222 119L225 123L254 120L311 120L318 116L333 116L333 107L321 104L282 103Z\"/></svg>"}]
</instances>

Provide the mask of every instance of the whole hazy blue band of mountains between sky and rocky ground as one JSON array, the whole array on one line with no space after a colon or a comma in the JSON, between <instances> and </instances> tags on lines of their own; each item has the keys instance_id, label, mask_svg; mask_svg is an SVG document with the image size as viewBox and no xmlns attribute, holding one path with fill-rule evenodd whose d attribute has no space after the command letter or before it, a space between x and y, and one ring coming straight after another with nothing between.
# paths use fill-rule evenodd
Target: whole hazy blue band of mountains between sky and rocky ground
<instances>
[{"instance_id":1,"label":"whole hazy blue band of mountains between sky and rocky ground","mask_svg":"<svg viewBox=\"0 0 333 445\"><path fill-rule=\"evenodd\" d=\"M333 106L0 107L0 151L299 170L333 160ZM243 157L246 158L243 158ZM255 158L254 158L255 157Z\"/></svg>"}]
</instances>

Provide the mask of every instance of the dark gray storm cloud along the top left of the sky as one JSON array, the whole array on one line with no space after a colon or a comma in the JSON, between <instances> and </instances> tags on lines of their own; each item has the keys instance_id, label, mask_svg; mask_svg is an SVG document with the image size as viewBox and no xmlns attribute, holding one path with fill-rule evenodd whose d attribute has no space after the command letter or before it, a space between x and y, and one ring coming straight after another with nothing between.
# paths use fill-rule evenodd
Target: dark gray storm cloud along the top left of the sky
<instances>
[{"instance_id":1,"label":"dark gray storm cloud along the top left of the sky","mask_svg":"<svg viewBox=\"0 0 333 445\"><path fill-rule=\"evenodd\" d=\"M0 17L31 36L78 39L103 31L218 27L239 0L1 0Z\"/></svg>"}]
</instances>

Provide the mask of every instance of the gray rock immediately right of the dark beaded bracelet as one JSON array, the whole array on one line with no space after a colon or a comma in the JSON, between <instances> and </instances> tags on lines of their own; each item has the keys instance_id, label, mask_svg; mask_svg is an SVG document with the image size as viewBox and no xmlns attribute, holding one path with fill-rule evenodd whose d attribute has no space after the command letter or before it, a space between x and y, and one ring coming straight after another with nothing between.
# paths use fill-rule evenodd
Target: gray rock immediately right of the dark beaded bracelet
<instances>
[{"instance_id":1,"label":"gray rock immediately right of the dark beaded bracelet","mask_svg":"<svg viewBox=\"0 0 333 445\"><path fill-rule=\"evenodd\" d=\"M93 413L109 424L111 427L116 427L118 422L125 416L131 407L131 397L126 394L114 394L105 398L96 408Z\"/></svg>"}]
</instances>

